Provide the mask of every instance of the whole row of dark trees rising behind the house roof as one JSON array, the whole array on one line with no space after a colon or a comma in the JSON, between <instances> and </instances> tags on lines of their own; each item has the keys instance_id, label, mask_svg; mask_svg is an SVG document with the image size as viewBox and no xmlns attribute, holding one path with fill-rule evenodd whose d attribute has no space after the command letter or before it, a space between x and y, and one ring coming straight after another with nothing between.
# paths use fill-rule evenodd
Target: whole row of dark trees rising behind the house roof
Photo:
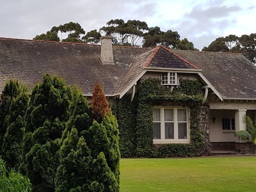
<instances>
[{"instance_id":1,"label":"whole row of dark trees rising behind the house roof","mask_svg":"<svg viewBox=\"0 0 256 192\"><path fill-rule=\"evenodd\" d=\"M62 38L62 34L66 34L67 38ZM54 26L50 31L37 35L33 39L100 44L102 36L112 36L113 45L117 46L151 48L162 45L176 50L198 50L187 38L180 39L178 32L170 29L162 31L158 26L148 27L146 22L140 20L125 22L123 19L111 19L106 26L87 33L79 23L69 22ZM210 45L203 47L202 51L242 53L256 64L256 33L241 37L236 35L218 37Z\"/></svg>"}]
</instances>

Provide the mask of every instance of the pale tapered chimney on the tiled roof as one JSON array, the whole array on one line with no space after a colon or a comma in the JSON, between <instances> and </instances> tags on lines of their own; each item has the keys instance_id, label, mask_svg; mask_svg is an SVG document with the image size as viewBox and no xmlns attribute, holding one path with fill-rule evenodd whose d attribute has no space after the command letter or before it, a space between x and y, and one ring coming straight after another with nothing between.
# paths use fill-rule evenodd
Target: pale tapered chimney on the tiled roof
<instances>
[{"instance_id":1,"label":"pale tapered chimney on the tiled roof","mask_svg":"<svg viewBox=\"0 0 256 192\"><path fill-rule=\"evenodd\" d=\"M113 63L112 38L110 36L101 37L101 59L104 63Z\"/></svg>"}]
</instances>

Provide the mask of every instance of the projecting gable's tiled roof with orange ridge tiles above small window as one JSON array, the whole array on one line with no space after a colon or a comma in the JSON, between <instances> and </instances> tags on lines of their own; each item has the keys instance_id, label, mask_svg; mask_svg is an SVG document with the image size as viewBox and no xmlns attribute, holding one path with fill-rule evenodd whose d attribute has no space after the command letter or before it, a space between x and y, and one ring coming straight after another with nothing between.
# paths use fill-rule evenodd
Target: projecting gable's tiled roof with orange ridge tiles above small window
<instances>
[{"instance_id":1,"label":"projecting gable's tiled roof with orange ridge tiles above small window","mask_svg":"<svg viewBox=\"0 0 256 192\"><path fill-rule=\"evenodd\" d=\"M195 65L182 59L180 56L174 54L164 46L157 46L134 57L129 69L119 83L115 94L121 94L122 97L122 95L126 92L125 89L129 89L131 86L133 86L133 84L137 82L136 79L140 78L146 72L147 68L198 69Z\"/></svg>"}]
</instances>

